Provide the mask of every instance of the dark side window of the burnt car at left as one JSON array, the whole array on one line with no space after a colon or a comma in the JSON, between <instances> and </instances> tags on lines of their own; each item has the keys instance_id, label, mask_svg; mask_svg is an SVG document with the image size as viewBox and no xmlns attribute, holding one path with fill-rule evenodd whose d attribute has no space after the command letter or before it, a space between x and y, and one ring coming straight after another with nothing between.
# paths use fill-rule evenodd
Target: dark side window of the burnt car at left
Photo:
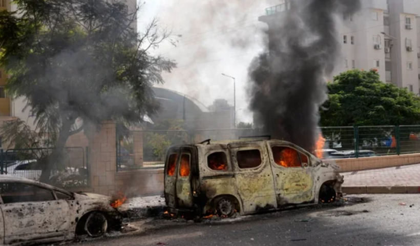
<instances>
[{"instance_id":1,"label":"dark side window of the burnt car at left","mask_svg":"<svg viewBox=\"0 0 420 246\"><path fill-rule=\"evenodd\" d=\"M0 195L3 203L53 201L55 197L51 190L27 183L0 183Z\"/></svg>"}]
</instances>

